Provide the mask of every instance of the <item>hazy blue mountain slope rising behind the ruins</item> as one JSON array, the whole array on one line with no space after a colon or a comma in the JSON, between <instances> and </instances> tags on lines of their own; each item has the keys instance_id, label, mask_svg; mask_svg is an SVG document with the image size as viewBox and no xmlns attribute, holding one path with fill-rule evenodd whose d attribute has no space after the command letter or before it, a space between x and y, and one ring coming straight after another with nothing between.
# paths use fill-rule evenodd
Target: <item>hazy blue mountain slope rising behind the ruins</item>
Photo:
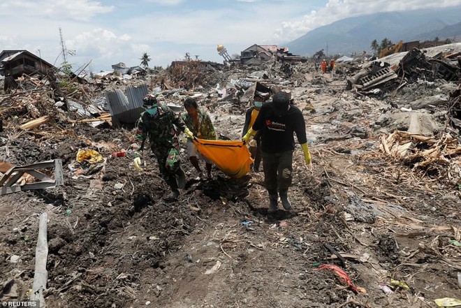
<instances>
[{"instance_id":1,"label":"hazy blue mountain slope rising behind the ruins","mask_svg":"<svg viewBox=\"0 0 461 308\"><path fill-rule=\"evenodd\" d=\"M353 52L371 53L374 39L380 43L388 38L397 43L431 41L435 37L439 41L461 38L461 6L349 17L309 31L284 45L292 54L301 56L312 56L322 49L327 55L349 56Z\"/></svg>"}]
</instances>

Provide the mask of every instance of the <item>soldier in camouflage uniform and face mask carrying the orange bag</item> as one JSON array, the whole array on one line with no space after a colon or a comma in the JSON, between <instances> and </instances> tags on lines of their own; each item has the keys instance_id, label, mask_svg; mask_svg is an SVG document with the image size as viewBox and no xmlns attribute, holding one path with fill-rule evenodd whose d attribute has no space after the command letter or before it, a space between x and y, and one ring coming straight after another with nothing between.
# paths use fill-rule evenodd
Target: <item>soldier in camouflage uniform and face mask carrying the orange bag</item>
<instances>
[{"instance_id":1,"label":"soldier in camouflage uniform and face mask carrying the orange bag","mask_svg":"<svg viewBox=\"0 0 461 308\"><path fill-rule=\"evenodd\" d=\"M193 133L173 110L160 103L153 94L147 94L142 102L145 111L141 113L136 123L137 138L140 138L142 143L135 153L134 166L137 170L142 170L140 152L144 149L145 140L149 138L150 149L159 163L160 173L172 191L167 199L176 200L180 196L178 188L183 189L186 186L186 175L181 168L177 135L180 130L188 138L193 138Z\"/></svg>"}]
</instances>

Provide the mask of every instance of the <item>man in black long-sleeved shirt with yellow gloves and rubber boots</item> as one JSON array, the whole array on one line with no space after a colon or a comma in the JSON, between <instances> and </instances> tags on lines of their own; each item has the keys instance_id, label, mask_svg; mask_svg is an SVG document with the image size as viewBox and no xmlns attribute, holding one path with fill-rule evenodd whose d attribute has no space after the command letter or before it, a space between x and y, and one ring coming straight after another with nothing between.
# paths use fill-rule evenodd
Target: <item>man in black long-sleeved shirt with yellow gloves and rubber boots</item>
<instances>
[{"instance_id":1,"label":"man in black long-sleeved shirt with yellow gloves and rubber boots","mask_svg":"<svg viewBox=\"0 0 461 308\"><path fill-rule=\"evenodd\" d=\"M290 210L288 188L291 186L293 171L293 151L296 133L305 156L305 162L311 163L311 154L307 146L305 120L301 110L290 104L290 96L279 92L272 102L265 103L253 124L253 129L261 133L261 150L263 156L264 184L269 193L268 213L278 208L278 197L285 210ZM249 135L243 140L249 140ZM278 196L277 196L278 193Z\"/></svg>"}]
</instances>

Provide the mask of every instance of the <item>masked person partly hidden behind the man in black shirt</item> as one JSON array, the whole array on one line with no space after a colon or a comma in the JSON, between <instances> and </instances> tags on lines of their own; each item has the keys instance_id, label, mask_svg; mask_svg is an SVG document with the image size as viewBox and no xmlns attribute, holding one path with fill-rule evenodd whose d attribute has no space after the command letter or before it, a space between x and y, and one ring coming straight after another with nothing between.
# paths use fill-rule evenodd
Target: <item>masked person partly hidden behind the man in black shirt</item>
<instances>
[{"instance_id":1,"label":"masked person partly hidden behind the man in black shirt","mask_svg":"<svg viewBox=\"0 0 461 308\"><path fill-rule=\"evenodd\" d=\"M259 110L263 105L265 99L262 95L255 92L253 98L253 106L247 109L245 113L245 123L243 125L242 137L248 133L248 130L253 126L254 120L258 117ZM252 139L249 141L249 152L251 158L254 159L253 170L255 173L259 172L259 165L261 164L261 135L257 131L251 133Z\"/></svg>"}]
</instances>

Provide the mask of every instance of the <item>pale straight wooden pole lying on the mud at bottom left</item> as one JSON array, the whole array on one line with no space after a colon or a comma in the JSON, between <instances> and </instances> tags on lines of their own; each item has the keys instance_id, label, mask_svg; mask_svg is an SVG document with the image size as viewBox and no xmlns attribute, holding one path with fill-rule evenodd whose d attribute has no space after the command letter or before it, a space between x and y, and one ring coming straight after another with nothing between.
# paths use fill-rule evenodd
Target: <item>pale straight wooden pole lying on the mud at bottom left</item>
<instances>
[{"instance_id":1,"label":"pale straight wooden pole lying on the mud at bottom left","mask_svg":"<svg viewBox=\"0 0 461 308\"><path fill-rule=\"evenodd\" d=\"M46 308L43 290L46 289L48 280L48 272L46 270L46 262L48 257L48 242L47 242L47 212L40 215L38 223L38 240L35 250L35 274L34 284L32 286L31 300L39 300L40 307Z\"/></svg>"}]
</instances>

